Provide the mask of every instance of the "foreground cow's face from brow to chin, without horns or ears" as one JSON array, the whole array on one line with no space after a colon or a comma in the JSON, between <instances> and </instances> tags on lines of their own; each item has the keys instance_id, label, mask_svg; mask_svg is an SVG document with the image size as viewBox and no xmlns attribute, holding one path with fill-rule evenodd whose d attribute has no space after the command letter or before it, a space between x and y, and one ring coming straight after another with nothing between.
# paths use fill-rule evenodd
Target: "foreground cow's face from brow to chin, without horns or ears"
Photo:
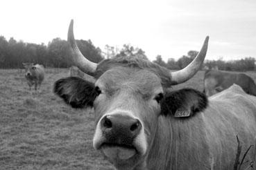
<instances>
[{"instance_id":1,"label":"foreground cow's face from brow to chin, without horns or ears","mask_svg":"<svg viewBox=\"0 0 256 170\"><path fill-rule=\"evenodd\" d=\"M134 165L146 154L155 133L163 90L148 70L114 68L96 81L94 148L114 164ZM119 166L117 166L119 167Z\"/></svg>"}]
</instances>

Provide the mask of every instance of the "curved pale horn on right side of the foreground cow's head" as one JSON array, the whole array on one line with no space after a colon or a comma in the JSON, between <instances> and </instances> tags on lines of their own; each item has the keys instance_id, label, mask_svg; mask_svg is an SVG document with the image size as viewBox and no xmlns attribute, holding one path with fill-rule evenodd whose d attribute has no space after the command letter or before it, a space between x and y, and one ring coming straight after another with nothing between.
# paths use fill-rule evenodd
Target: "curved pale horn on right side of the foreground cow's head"
<instances>
[{"instance_id":1,"label":"curved pale horn on right side of the foreground cow's head","mask_svg":"<svg viewBox=\"0 0 256 170\"><path fill-rule=\"evenodd\" d=\"M200 69L200 66L203 64L205 59L205 55L207 53L209 36L205 38L205 42L203 43L203 47L201 48L198 55L196 55L195 59L182 70L178 70L175 72L171 72L171 84L180 84L186 82L188 79L193 77L197 71Z\"/></svg>"}]
</instances>

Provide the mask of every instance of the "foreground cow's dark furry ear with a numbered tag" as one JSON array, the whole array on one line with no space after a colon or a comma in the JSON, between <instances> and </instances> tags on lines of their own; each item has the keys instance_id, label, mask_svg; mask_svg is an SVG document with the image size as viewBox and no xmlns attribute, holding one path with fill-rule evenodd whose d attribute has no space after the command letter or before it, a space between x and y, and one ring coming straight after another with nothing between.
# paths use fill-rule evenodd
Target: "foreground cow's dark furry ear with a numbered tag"
<instances>
[{"instance_id":1,"label":"foreground cow's dark furry ear with a numbered tag","mask_svg":"<svg viewBox=\"0 0 256 170\"><path fill-rule=\"evenodd\" d=\"M207 107L207 97L192 88L166 93L161 100L161 115L191 117Z\"/></svg>"}]
</instances>

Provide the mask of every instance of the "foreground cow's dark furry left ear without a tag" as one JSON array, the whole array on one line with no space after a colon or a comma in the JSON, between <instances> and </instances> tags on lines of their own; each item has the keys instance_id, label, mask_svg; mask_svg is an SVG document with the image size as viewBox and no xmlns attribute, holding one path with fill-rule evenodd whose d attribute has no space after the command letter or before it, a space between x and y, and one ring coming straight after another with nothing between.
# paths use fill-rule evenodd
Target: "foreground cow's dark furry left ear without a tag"
<instances>
[{"instance_id":1,"label":"foreground cow's dark furry left ear without a tag","mask_svg":"<svg viewBox=\"0 0 256 170\"><path fill-rule=\"evenodd\" d=\"M53 92L73 108L92 107L96 98L94 84L79 77L59 79L54 84Z\"/></svg>"}]
</instances>

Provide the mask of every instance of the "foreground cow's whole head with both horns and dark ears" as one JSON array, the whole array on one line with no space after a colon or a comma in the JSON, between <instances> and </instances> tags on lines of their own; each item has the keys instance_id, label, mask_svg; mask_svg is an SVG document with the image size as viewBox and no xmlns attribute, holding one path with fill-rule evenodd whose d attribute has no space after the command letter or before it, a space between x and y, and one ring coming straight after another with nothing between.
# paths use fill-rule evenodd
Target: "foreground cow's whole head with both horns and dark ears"
<instances>
[{"instance_id":1,"label":"foreground cow's whole head with both horns and dark ears","mask_svg":"<svg viewBox=\"0 0 256 170\"><path fill-rule=\"evenodd\" d=\"M191 117L207 105L205 95L198 91L187 88L167 92L166 88L196 74L207 52L208 37L194 61L176 72L137 57L89 62L76 46L73 21L68 43L76 66L93 75L95 82L67 77L56 82L54 92L74 108L94 107L93 146L117 169L144 165L158 117Z\"/></svg>"}]
</instances>

